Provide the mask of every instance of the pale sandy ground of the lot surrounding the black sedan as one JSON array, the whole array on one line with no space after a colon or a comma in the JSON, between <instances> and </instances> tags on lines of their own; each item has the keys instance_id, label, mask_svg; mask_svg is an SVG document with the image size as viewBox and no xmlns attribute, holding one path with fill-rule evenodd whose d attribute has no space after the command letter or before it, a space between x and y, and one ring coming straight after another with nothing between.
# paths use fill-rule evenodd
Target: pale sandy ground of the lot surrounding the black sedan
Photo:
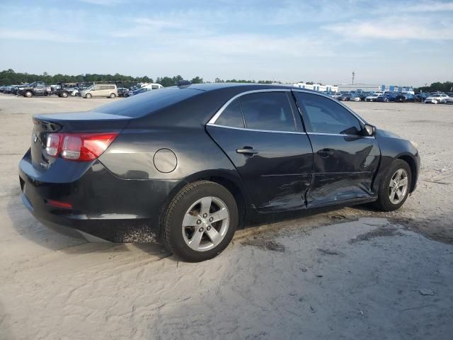
<instances>
[{"instance_id":1,"label":"pale sandy ground of the lot surrounding the black sedan","mask_svg":"<svg viewBox=\"0 0 453 340\"><path fill-rule=\"evenodd\" d=\"M21 204L30 117L108 102L0 94L0 339L452 339L453 106L348 103L419 144L401 210L251 227L182 263L156 244L64 237Z\"/></svg>"}]
</instances>

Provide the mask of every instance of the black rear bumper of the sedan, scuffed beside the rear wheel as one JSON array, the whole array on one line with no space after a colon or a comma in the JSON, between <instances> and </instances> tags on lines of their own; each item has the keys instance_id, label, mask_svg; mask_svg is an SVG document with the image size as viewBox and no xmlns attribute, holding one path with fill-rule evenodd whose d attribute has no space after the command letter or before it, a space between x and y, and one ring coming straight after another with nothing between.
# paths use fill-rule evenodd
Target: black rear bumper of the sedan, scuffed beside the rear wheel
<instances>
[{"instance_id":1,"label":"black rear bumper of the sedan, scuffed beside the rear wheel","mask_svg":"<svg viewBox=\"0 0 453 340\"><path fill-rule=\"evenodd\" d=\"M65 182L63 177L73 164L59 169L59 177L50 178L49 170L40 174L33 168L29 152L21 160L23 204L37 220L57 232L91 242L158 239L159 216L177 181L119 179L96 161L76 179L71 174L71 181ZM69 203L72 208L57 208L49 200Z\"/></svg>"}]
</instances>

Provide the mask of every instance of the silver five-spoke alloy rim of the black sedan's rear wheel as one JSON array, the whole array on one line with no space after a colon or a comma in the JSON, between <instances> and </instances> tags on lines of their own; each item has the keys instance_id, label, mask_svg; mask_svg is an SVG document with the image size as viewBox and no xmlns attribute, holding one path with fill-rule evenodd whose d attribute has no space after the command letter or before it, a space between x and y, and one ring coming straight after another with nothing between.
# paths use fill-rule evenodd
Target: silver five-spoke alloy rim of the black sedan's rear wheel
<instances>
[{"instance_id":1,"label":"silver five-spoke alloy rim of the black sedan's rear wheel","mask_svg":"<svg viewBox=\"0 0 453 340\"><path fill-rule=\"evenodd\" d=\"M197 200L185 212L182 232L185 244L195 251L207 251L222 242L229 227L229 211L217 197Z\"/></svg>"}]
</instances>

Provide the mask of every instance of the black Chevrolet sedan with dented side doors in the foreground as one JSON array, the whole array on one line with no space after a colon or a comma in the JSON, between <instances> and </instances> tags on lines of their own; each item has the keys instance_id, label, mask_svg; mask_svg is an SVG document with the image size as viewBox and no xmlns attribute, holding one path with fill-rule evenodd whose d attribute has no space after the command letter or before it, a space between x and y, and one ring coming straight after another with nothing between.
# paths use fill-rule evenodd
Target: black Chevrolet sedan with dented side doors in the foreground
<instances>
[{"instance_id":1,"label":"black Chevrolet sedan with dented side doors in the foreground","mask_svg":"<svg viewBox=\"0 0 453 340\"><path fill-rule=\"evenodd\" d=\"M420 166L415 143L289 86L172 86L33 122L19 177L38 220L73 237L159 239L185 261L217 256L270 212L396 210Z\"/></svg>"}]
</instances>

